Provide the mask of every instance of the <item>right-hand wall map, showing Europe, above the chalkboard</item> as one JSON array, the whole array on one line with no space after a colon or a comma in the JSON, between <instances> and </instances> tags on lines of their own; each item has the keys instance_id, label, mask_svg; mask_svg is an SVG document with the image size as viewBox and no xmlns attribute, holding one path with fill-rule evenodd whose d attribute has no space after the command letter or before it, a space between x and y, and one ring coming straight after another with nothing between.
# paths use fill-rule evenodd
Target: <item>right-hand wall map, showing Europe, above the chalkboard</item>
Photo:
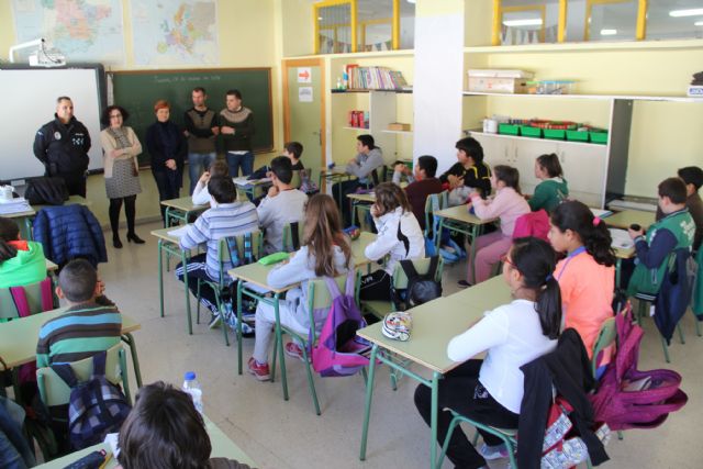
<instances>
[{"instance_id":1,"label":"right-hand wall map, showing Europe, above the chalkboard","mask_svg":"<svg viewBox=\"0 0 703 469\"><path fill-rule=\"evenodd\" d=\"M133 0L136 65L216 65L214 0Z\"/></svg>"}]
</instances>

